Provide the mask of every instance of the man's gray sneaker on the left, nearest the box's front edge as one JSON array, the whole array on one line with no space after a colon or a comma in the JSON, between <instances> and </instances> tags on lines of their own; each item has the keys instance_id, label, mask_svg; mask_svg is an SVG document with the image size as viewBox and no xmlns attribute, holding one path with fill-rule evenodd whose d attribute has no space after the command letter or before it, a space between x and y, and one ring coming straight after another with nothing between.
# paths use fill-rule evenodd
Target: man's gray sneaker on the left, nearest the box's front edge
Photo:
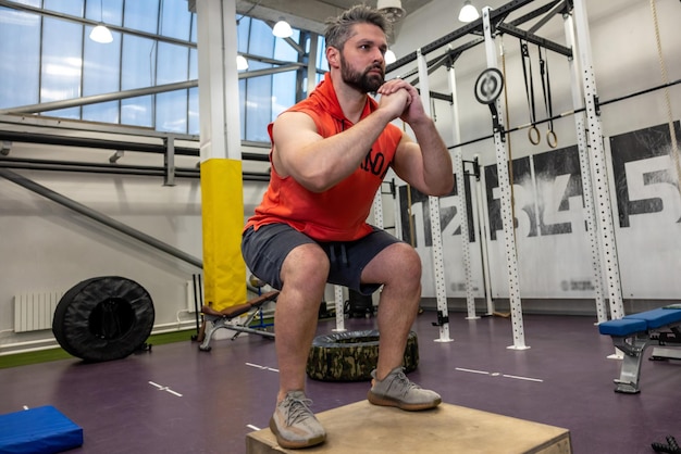
<instances>
[{"instance_id":1,"label":"man's gray sneaker on the left, nearest the box's front edge","mask_svg":"<svg viewBox=\"0 0 681 454\"><path fill-rule=\"evenodd\" d=\"M276 436L282 447L298 449L320 444L326 440L326 432L317 420L310 405L312 401L302 391L290 391L276 405L270 419L270 430Z\"/></svg>"}]
</instances>

